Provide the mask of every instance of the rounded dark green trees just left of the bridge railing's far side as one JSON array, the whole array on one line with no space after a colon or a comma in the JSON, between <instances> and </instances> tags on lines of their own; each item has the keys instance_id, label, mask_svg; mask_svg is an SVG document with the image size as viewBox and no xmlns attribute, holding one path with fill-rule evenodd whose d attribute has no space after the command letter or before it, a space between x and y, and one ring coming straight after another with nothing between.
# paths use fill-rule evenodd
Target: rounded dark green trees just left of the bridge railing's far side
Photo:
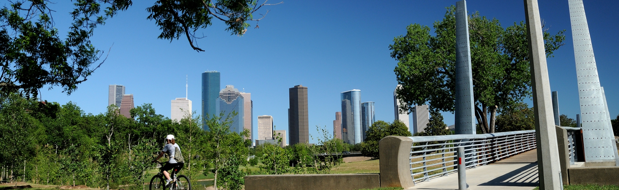
<instances>
[{"instance_id":1,"label":"rounded dark green trees just left of the bridge railing's far side","mask_svg":"<svg viewBox=\"0 0 619 190\"><path fill-rule=\"evenodd\" d=\"M366 132L365 141L360 144L361 154L378 158L378 141L389 135L412 136L406 125L399 120L394 120L393 123L378 120Z\"/></svg>"}]
</instances>

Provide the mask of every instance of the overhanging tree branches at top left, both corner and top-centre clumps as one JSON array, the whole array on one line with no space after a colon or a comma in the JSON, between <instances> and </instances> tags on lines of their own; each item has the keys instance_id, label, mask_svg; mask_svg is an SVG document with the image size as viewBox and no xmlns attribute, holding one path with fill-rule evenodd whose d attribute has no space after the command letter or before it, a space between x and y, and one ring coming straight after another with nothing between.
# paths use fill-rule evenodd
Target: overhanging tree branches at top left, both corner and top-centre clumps
<instances>
[{"instance_id":1,"label":"overhanging tree branches at top left, both corner and top-centre clumps","mask_svg":"<svg viewBox=\"0 0 619 190\"><path fill-rule=\"evenodd\" d=\"M209 27L213 18L228 26L233 35L243 35L249 22L267 1L190 0L157 1L147 11L147 19L155 20L162 30L160 39L178 39L185 36L196 51L199 29ZM82 0L74 2L70 13L71 27L66 38L55 28L50 1L9 1L0 9L0 93L7 95L22 91L25 96L37 97L45 85L60 86L71 94L77 85L86 81L100 67L103 51L90 41L95 28L119 11L128 9L131 0ZM111 47L110 47L111 48ZM109 53L109 52L108 52Z\"/></svg>"}]
</instances>

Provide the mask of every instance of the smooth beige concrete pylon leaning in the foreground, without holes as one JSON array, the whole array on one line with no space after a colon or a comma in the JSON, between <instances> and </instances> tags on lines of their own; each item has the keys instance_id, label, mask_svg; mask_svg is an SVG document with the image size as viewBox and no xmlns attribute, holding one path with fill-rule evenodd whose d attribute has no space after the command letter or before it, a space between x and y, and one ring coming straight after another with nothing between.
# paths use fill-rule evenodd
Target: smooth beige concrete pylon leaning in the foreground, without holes
<instances>
[{"instance_id":1,"label":"smooth beige concrete pylon leaning in the foreground, without holes","mask_svg":"<svg viewBox=\"0 0 619 190\"><path fill-rule=\"evenodd\" d=\"M559 151L556 142L555 118L552 110L552 93L546 65L542 20L537 0L524 1L527 22L527 41L531 67L531 89L535 107L535 139L537 140L537 165L540 189L559 190L563 181L559 178Z\"/></svg>"}]
</instances>

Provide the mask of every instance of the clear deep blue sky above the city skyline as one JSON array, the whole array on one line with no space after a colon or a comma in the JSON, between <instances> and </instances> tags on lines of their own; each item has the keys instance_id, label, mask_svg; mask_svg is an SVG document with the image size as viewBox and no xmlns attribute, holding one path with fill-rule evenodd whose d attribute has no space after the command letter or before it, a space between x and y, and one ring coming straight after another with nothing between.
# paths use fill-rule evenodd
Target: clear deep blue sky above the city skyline
<instances>
[{"instance_id":1,"label":"clear deep blue sky above the city skyline","mask_svg":"<svg viewBox=\"0 0 619 190\"><path fill-rule=\"evenodd\" d=\"M276 2L274 0L271 0ZM271 2L269 1L269 2ZM221 72L221 85L252 93L254 130L258 115L272 115L277 130L288 130L288 88L308 86L310 134L316 126L332 130L340 111L340 92L361 90L361 101L376 102L376 119L394 119L392 93L397 85L389 44L404 35L411 23L432 25L443 18L445 7L456 1L290 1L269 6L260 28L234 36L216 22L198 41L206 52L196 52L186 39L157 39L160 31L146 20L146 8L155 1L134 1L133 6L98 27L91 38L108 59L71 96L60 88L42 90L41 97L65 104L77 103L86 113L105 112L108 85L126 86L136 105L152 103L158 114L170 117L170 100L185 96L185 76L193 109L201 113L201 73ZM279 1L277 1L279 2ZM567 0L540 1L540 15L551 33L566 30L565 46L548 59L552 91L559 91L560 112L579 114L576 67ZM584 0L589 30L612 118L619 114L619 1ZM61 31L70 22L71 4L51 5ZM522 1L470 0L469 14L479 11L495 17L503 27L524 20ZM266 11L262 10L261 12ZM255 23L252 23L253 25ZM530 101L528 101L530 102ZM444 114L452 125L452 114ZM256 131L254 131L254 136ZM311 140L311 142L315 142Z\"/></svg>"}]
</instances>

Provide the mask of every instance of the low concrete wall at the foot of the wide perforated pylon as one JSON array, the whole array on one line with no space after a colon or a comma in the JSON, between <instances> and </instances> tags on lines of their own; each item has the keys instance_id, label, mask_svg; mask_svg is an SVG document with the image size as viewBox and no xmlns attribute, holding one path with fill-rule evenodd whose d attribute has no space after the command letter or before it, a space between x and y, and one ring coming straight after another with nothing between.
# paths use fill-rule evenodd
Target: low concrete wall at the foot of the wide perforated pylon
<instances>
[{"instance_id":1,"label":"low concrete wall at the foot of the wide perforated pylon","mask_svg":"<svg viewBox=\"0 0 619 190\"><path fill-rule=\"evenodd\" d=\"M569 168L569 184L619 184L619 167Z\"/></svg>"}]
</instances>

